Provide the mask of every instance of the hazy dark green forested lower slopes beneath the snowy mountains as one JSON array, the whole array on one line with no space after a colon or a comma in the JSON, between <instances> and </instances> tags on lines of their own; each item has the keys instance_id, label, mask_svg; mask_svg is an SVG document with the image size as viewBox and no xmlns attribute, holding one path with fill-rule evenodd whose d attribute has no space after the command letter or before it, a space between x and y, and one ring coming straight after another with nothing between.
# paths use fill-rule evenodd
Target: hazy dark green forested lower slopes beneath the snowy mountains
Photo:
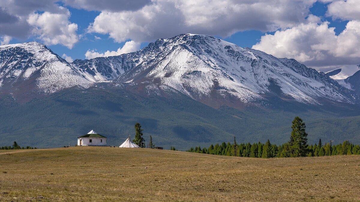
<instances>
[{"instance_id":1,"label":"hazy dark green forested lower slopes beneath the snowy mountains","mask_svg":"<svg viewBox=\"0 0 360 202\"><path fill-rule=\"evenodd\" d=\"M275 100L278 108L231 107L214 109L183 95L140 96L125 89L67 89L19 103L12 97L0 100L0 146L61 147L77 143L90 130L120 145L140 122L145 141L153 137L157 146L187 150L212 143L284 143L291 121L300 116L307 125L309 143L349 140L359 144L358 110L329 109Z\"/></svg>"}]
</instances>

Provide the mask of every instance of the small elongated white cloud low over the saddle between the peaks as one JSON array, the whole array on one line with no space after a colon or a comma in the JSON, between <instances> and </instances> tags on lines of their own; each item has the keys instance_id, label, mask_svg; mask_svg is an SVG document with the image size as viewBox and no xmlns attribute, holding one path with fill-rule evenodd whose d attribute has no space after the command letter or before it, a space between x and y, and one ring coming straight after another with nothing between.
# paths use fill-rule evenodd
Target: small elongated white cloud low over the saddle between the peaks
<instances>
[{"instance_id":1,"label":"small elongated white cloud low over the saddle between the peaks","mask_svg":"<svg viewBox=\"0 0 360 202\"><path fill-rule=\"evenodd\" d=\"M140 49L140 44L135 41L127 41L122 48L120 47L117 51L106 51L104 53L96 52L94 50L88 50L85 53L86 59L93 59L98 57L116 56L129 52L134 52Z\"/></svg>"}]
</instances>

